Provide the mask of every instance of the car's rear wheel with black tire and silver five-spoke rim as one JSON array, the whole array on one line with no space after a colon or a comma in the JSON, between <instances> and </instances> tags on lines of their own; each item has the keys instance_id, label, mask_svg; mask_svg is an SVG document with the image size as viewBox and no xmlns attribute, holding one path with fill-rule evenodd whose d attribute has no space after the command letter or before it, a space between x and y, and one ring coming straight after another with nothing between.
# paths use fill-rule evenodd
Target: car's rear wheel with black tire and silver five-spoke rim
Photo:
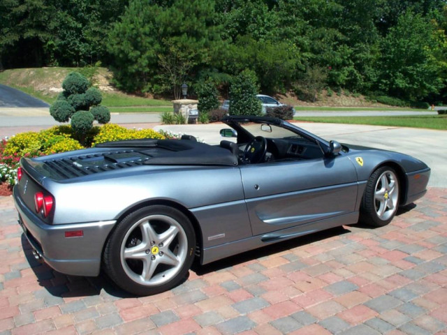
<instances>
[{"instance_id":1,"label":"car's rear wheel with black tire and silver five-spoke rim","mask_svg":"<svg viewBox=\"0 0 447 335\"><path fill-rule=\"evenodd\" d=\"M138 209L117 223L103 255L108 276L134 295L170 290L193 262L196 236L177 209L154 205Z\"/></svg>"}]
</instances>

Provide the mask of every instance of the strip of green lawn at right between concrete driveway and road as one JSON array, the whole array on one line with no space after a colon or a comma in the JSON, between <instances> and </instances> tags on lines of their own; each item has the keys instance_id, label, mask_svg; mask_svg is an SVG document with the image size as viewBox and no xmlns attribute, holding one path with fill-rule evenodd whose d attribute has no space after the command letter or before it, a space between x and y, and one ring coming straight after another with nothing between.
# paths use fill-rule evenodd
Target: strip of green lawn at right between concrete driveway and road
<instances>
[{"instance_id":1,"label":"strip of green lawn at right between concrete driveway and road","mask_svg":"<svg viewBox=\"0 0 447 335\"><path fill-rule=\"evenodd\" d=\"M447 130L447 115L414 115L403 117L294 117L296 121L323 122L328 124L368 124Z\"/></svg>"}]
</instances>

